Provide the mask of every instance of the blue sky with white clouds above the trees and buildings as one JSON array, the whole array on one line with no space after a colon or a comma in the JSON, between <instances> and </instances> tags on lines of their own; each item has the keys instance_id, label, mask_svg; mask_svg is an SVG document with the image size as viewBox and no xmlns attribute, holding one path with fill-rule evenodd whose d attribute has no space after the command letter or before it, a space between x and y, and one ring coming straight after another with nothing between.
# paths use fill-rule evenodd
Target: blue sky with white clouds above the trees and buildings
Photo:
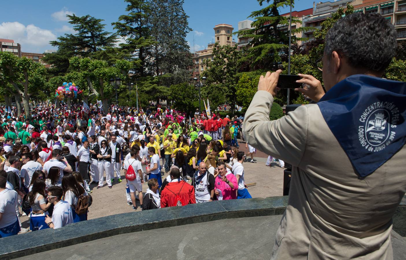
<instances>
[{"instance_id":1,"label":"blue sky with white clouds above the trees and buildings","mask_svg":"<svg viewBox=\"0 0 406 260\"><path fill-rule=\"evenodd\" d=\"M55 49L49 41L65 33L74 33L67 14L89 14L104 19L106 30L114 32L111 23L125 14L126 5L124 0L16 1L0 9L0 38L20 43L22 52L43 53L46 49ZM239 21L260 9L257 0L185 0L183 7L192 28L186 37L192 52L204 49L214 39L213 27L216 24L231 24L235 32ZM299 0L292 11L311 7L313 1ZM289 6L279 10L279 13L287 12Z\"/></svg>"}]
</instances>

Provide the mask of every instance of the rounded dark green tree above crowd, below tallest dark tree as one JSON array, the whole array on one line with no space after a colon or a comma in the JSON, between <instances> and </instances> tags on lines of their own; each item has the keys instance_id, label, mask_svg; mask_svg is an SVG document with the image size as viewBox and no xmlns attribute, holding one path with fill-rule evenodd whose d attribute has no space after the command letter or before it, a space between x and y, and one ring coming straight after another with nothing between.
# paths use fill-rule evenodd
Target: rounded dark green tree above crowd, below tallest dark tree
<instances>
[{"instance_id":1,"label":"rounded dark green tree above crowd, below tallest dark tree","mask_svg":"<svg viewBox=\"0 0 406 260\"><path fill-rule=\"evenodd\" d=\"M197 101L194 86L188 83L172 85L168 97L173 101L173 106L182 111L195 110L194 101Z\"/></svg>"}]
</instances>

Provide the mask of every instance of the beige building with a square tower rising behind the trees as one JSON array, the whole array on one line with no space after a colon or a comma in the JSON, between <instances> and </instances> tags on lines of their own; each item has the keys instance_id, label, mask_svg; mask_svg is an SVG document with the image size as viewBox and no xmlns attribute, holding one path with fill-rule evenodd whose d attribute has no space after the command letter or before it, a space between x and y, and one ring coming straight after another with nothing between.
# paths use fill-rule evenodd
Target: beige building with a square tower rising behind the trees
<instances>
[{"instance_id":1,"label":"beige building with a square tower rising behind the trees","mask_svg":"<svg viewBox=\"0 0 406 260\"><path fill-rule=\"evenodd\" d=\"M235 45L232 37L233 26L230 24L217 24L213 29L214 41L207 45L207 49L196 51L193 54L194 70L192 77L199 78L200 73L206 70L206 61L213 60L213 47L215 43L219 43L221 46L227 44Z\"/></svg>"}]
</instances>

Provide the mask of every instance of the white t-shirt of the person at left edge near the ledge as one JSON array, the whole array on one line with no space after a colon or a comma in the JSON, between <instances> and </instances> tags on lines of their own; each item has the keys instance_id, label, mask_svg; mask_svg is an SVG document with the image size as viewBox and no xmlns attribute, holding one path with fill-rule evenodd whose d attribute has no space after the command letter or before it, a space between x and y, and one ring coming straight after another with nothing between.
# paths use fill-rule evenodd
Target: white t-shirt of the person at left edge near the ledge
<instances>
[{"instance_id":1,"label":"white t-shirt of the person at left edge near the ledge","mask_svg":"<svg viewBox=\"0 0 406 260\"><path fill-rule=\"evenodd\" d=\"M0 192L0 213L2 213L0 228L10 226L17 221L17 215L15 214L17 197L17 191L11 189L4 189L4 191Z\"/></svg>"}]
</instances>

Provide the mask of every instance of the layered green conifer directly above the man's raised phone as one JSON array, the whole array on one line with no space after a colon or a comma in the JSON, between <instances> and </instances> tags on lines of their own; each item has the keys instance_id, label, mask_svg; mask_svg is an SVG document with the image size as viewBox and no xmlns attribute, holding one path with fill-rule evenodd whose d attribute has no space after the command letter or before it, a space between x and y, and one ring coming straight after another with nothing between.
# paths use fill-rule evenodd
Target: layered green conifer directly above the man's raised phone
<instances>
[{"instance_id":1,"label":"layered green conifer directly above the man's raised phone","mask_svg":"<svg viewBox=\"0 0 406 260\"><path fill-rule=\"evenodd\" d=\"M253 47L248 49L248 55L242 58L243 62L250 62L254 69L278 69L278 63L281 62L280 53L289 46L289 31L281 30L281 25L289 26L289 17L279 15L278 8L289 6L293 0L258 0L262 6L264 2L268 5L259 11L254 11L248 18L254 18L251 24L253 29L235 32L238 37L249 37L253 40ZM299 19L292 17L292 24L300 23ZM292 34L309 30L310 28L301 27L292 29ZM293 43L296 37L292 37Z\"/></svg>"}]
</instances>

